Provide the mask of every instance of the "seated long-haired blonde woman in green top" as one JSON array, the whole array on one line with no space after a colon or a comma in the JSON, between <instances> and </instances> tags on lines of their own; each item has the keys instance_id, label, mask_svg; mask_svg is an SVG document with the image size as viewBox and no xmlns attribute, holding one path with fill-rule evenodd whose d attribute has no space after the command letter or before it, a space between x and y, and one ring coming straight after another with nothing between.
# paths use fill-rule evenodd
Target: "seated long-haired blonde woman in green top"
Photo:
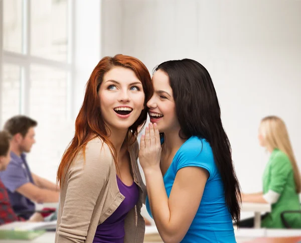
<instances>
[{"instance_id":1,"label":"seated long-haired blonde woman in green top","mask_svg":"<svg viewBox=\"0 0 301 243\"><path fill-rule=\"evenodd\" d=\"M264 117L259 126L258 140L260 146L270 153L262 176L263 191L242 194L242 201L271 204L271 212L261 217L261 227L301 228L298 195L301 177L283 120L277 116ZM252 218L242 220L240 227L253 227L253 222Z\"/></svg>"}]
</instances>

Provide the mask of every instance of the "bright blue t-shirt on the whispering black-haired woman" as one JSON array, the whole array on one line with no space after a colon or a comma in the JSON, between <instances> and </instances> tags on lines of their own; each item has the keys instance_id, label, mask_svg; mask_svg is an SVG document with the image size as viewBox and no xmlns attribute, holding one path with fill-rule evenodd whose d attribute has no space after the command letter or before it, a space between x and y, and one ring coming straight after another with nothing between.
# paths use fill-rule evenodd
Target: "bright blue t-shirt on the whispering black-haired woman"
<instances>
[{"instance_id":1,"label":"bright blue t-shirt on the whispering black-haired woman","mask_svg":"<svg viewBox=\"0 0 301 243\"><path fill-rule=\"evenodd\" d=\"M177 172L187 166L206 169L209 172L209 178L196 216L181 242L236 242L231 214L225 202L222 178L215 165L211 146L205 139L191 137L177 151L163 177L168 197ZM148 197L146 197L145 204L149 215L152 216Z\"/></svg>"}]
</instances>

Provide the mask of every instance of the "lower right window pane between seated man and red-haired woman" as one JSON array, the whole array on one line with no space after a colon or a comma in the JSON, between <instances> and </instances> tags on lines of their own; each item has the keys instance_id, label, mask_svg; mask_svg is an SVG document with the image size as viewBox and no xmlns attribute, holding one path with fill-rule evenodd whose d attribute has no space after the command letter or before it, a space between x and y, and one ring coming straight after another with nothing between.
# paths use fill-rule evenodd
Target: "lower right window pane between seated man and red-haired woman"
<instances>
[{"instance_id":1,"label":"lower right window pane between seated man and red-haired woman","mask_svg":"<svg viewBox=\"0 0 301 243\"><path fill-rule=\"evenodd\" d=\"M67 124L67 72L41 65L30 67L29 115L38 121L37 143L29 154L39 175L55 180L60 158L70 142ZM40 173L41 172L41 173Z\"/></svg>"}]
</instances>

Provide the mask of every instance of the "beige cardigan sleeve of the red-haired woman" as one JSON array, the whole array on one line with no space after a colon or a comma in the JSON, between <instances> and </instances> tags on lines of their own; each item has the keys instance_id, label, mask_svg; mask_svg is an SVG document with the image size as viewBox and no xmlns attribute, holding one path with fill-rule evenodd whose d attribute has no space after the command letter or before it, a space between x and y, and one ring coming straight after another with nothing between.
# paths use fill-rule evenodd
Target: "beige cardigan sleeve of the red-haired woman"
<instances>
[{"instance_id":1,"label":"beige cardigan sleeve of the red-haired woman","mask_svg":"<svg viewBox=\"0 0 301 243\"><path fill-rule=\"evenodd\" d=\"M99 194L109 178L113 158L107 145L90 142L68 171L67 192L58 243L84 243Z\"/></svg>"}]
</instances>

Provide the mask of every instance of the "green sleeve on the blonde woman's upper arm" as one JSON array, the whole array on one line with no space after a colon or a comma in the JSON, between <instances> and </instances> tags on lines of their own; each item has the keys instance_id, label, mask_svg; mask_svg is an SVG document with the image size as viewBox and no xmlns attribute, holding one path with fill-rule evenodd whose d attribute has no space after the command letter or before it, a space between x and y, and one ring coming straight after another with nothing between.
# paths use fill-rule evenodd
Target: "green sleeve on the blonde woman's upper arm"
<instances>
[{"instance_id":1,"label":"green sleeve on the blonde woman's upper arm","mask_svg":"<svg viewBox=\"0 0 301 243\"><path fill-rule=\"evenodd\" d=\"M285 154L277 154L273 158L270 169L270 183L268 190L281 194L287 182L288 174L292 172L291 164Z\"/></svg>"}]
</instances>

